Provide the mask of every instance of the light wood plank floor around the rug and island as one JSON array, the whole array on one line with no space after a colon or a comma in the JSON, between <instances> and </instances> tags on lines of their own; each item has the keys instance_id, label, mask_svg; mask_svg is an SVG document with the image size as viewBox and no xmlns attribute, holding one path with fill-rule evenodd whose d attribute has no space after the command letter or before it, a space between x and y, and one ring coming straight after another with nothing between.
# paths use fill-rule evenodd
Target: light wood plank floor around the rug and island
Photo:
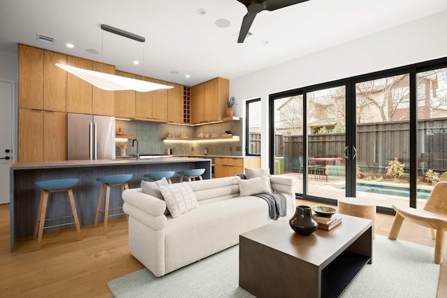
<instances>
[{"instance_id":1,"label":"light wood plank floor around the rug and island","mask_svg":"<svg viewBox=\"0 0 447 298\"><path fill-rule=\"evenodd\" d=\"M302 200L297 204L320 205ZM393 216L378 214L376 233L387 236L392 223ZM20 239L10 253L9 205L0 205L0 297L112 297L108 281L143 267L129 254L124 218L109 221L107 236L102 225L81 230L81 241L76 241L73 228L44 234L41 251L36 251L36 241ZM430 230L407 222L400 239L434 246ZM446 255L447 246L438 297L447 297Z\"/></svg>"}]
</instances>

